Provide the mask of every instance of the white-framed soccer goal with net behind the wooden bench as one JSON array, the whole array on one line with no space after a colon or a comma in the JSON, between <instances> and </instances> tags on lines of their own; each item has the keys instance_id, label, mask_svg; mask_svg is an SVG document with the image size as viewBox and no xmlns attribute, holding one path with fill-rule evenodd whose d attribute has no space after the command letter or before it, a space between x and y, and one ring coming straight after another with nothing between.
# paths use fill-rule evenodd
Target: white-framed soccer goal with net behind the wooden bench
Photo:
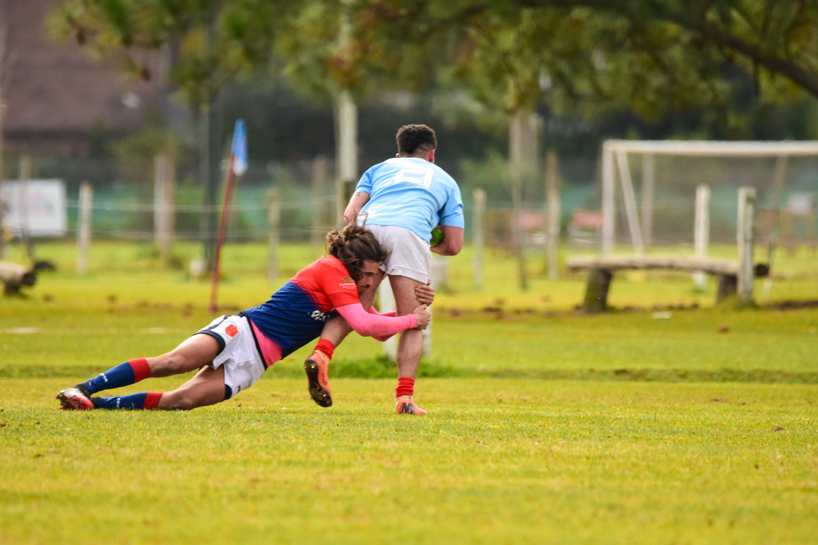
<instances>
[{"instance_id":1,"label":"white-framed soccer goal with net behind the wooden bench","mask_svg":"<svg viewBox=\"0 0 818 545\"><path fill-rule=\"evenodd\" d=\"M601 249L735 243L740 188L755 193L755 237L815 242L818 141L605 141Z\"/></svg>"}]
</instances>

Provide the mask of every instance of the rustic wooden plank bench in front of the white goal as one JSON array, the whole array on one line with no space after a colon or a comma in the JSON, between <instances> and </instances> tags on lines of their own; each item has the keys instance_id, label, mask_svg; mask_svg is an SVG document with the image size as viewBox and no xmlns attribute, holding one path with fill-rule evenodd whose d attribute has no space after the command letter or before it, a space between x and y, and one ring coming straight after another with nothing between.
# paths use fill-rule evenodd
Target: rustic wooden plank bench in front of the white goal
<instances>
[{"instance_id":1,"label":"rustic wooden plank bench in front of the white goal","mask_svg":"<svg viewBox=\"0 0 818 545\"><path fill-rule=\"evenodd\" d=\"M565 263L569 270L588 270L588 284L582 310L602 312L608 308L608 290L613 273L630 269L703 270L718 276L716 302L733 295L739 275L739 261L713 257L660 257L660 256L598 256L570 257ZM766 275L766 265L757 265L756 276Z\"/></svg>"}]
</instances>

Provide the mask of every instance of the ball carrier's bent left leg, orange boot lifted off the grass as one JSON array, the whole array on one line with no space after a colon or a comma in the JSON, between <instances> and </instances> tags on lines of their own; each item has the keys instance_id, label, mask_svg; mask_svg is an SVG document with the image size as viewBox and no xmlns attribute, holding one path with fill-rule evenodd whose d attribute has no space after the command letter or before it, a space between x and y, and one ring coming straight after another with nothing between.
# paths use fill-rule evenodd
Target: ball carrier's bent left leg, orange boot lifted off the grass
<instances>
[{"instance_id":1,"label":"ball carrier's bent left leg, orange boot lifted off the grass","mask_svg":"<svg viewBox=\"0 0 818 545\"><path fill-rule=\"evenodd\" d=\"M367 288L359 297L365 309L371 308L375 302L375 292L384 279L384 273L378 271L373 278L370 288ZM307 389L310 397L321 407L332 406L332 394L330 392L329 365L332 360L332 353L353 328L349 327L347 320L342 316L335 316L329 319L321 330L321 340L318 342L312 354L304 360L304 371L307 373Z\"/></svg>"}]
</instances>

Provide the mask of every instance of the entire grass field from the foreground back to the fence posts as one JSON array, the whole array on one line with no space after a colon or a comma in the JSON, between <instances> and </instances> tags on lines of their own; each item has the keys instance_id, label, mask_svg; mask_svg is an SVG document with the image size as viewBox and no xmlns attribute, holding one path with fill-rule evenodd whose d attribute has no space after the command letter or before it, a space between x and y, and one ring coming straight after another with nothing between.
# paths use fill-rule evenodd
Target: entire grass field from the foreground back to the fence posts
<instances>
[{"instance_id":1,"label":"entire grass field from the foreground back to the fence posts","mask_svg":"<svg viewBox=\"0 0 818 545\"><path fill-rule=\"evenodd\" d=\"M655 273L614 281L611 302L633 310L589 316L573 310L582 275L544 279L534 256L522 293L498 252L477 291L467 251L434 305L432 377L416 395L427 418L391 412L394 381L376 377L393 367L354 334L330 368L332 409L308 400L299 351L212 408L64 413L61 388L210 319L208 285L150 247L92 248L80 277L72 245L43 244L58 270L0 299L0 543L811 543L818 531L818 309L765 307L818 298L810 256L780 258L760 310L712 306L714 286ZM313 254L283 247L279 281ZM268 297L263 260L261 246L227 247L222 305Z\"/></svg>"}]
</instances>

